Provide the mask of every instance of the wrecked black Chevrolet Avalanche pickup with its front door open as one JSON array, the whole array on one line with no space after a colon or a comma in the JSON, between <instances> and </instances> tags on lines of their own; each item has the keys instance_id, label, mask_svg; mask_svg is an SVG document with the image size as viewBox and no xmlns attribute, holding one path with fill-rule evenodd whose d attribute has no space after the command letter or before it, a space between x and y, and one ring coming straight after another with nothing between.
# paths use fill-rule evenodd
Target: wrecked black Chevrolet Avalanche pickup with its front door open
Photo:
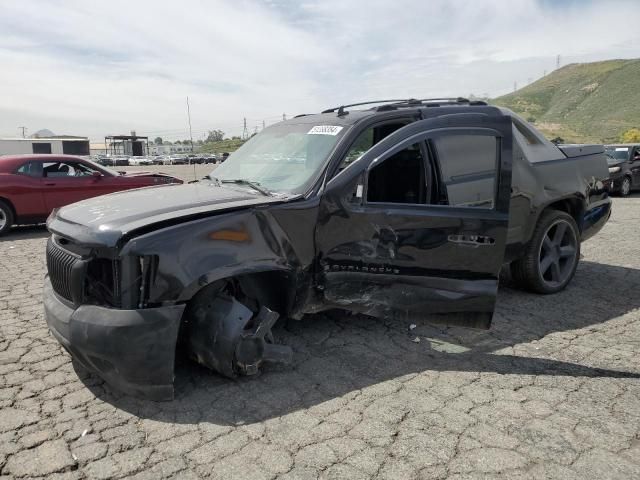
<instances>
[{"instance_id":1,"label":"wrecked black Chevrolet Avalanche pickup with its front door open","mask_svg":"<svg viewBox=\"0 0 640 480\"><path fill-rule=\"evenodd\" d=\"M271 126L198 182L52 213L52 334L115 387L167 399L177 344L250 375L290 360L279 317L489 328L503 264L534 292L568 284L610 215L602 146L557 147L461 98L360 105Z\"/></svg>"}]
</instances>

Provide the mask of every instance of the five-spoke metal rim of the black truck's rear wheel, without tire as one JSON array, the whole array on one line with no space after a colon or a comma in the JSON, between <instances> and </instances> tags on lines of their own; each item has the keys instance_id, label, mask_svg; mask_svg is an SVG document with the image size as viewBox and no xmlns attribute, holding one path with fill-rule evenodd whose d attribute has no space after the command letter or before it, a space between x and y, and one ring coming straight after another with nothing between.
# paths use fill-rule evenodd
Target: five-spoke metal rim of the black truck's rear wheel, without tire
<instances>
[{"instance_id":1,"label":"five-spoke metal rim of the black truck's rear wheel, without tire","mask_svg":"<svg viewBox=\"0 0 640 480\"><path fill-rule=\"evenodd\" d=\"M565 283L578 259L578 239L565 220L551 224L542 237L538 255L538 271L542 281L550 287Z\"/></svg>"}]
</instances>

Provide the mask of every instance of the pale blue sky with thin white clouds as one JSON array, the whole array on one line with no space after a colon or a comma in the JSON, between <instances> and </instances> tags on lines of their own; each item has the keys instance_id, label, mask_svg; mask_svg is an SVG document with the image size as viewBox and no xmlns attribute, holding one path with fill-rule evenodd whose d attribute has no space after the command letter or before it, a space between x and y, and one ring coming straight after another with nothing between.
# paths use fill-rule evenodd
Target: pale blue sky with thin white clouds
<instances>
[{"instance_id":1,"label":"pale blue sky with thin white clouds","mask_svg":"<svg viewBox=\"0 0 640 480\"><path fill-rule=\"evenodd\" d=\"M372 98L489 94L562 64L640 57L640 1L0 4L0 136L187 136ZM637 22L636 22L637 23Z\"/></svg>"}]
</instances>

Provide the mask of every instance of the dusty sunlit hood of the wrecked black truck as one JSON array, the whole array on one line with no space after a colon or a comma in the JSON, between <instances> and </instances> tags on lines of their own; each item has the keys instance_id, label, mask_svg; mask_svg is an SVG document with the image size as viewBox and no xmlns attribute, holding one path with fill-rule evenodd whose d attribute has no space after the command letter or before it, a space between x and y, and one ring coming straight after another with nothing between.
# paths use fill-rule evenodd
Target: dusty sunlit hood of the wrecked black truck
<instances>
[{"instance_id":1,"label":"dusty sunlit hood of the wrecked black truck","mask_svg":"<svg viewBox=\"0 0 640 480\"><path fill-rule=\"evenodd\" d=\"M176 223L297 197L267 197L244 187L217 186L212 182L154 186L67 205L52 212L47 227L83 245L113 247L124 235L154 224Z\"/></svg>"}]
</instances>

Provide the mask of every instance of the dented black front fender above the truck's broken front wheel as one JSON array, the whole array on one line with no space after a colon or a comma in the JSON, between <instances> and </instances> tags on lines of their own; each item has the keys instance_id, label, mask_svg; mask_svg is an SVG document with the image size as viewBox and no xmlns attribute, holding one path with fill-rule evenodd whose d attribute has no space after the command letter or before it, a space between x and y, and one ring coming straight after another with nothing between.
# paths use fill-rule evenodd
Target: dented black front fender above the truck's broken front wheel
<instances>
[{"instance_id":1,"label":"dented black front fender above the truck's broken front wheel","mask_svg":"<svg viewBox=\"0 0 640 480\"><path fill-rule=\"evenodd\" d=\"M295 274L299 255L266 209L251 209L169 226L130 240L121 255L157 257L149 303L189 300L222 278L264 271Z\"/></svg>"}]
</instances>

